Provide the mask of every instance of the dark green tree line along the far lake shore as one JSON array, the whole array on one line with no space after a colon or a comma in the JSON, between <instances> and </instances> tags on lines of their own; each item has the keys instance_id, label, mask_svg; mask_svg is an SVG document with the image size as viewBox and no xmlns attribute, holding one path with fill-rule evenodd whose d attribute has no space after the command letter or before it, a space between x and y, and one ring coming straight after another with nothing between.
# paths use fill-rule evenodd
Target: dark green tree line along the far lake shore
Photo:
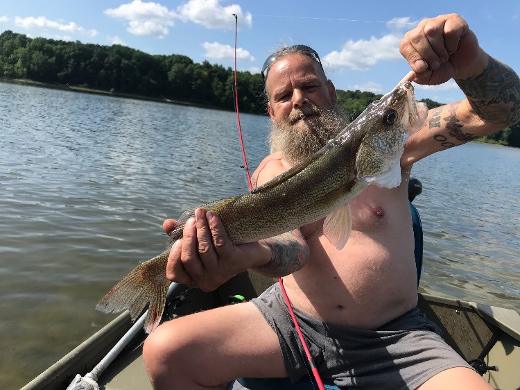
<instances>
[{"instance_id":1,"label":"dark green tree line along the far lake shore","mask_svg":"<svg viewBox=\"0 0 520 390\"><path fill-rule=\"evenodd\" d=\"M73 85L234 110L230 67L202 64L180 54L150 55L128 46L66 42L4 31L0 34L0 77ZM239 71L239 108L263 114L266 98L259 74ZM338 101L352 118L381 94L338 90ZM423 99L428 108L441 103ZM520 147L520 124L482 139Z\"/></svg>"}]
</instances>

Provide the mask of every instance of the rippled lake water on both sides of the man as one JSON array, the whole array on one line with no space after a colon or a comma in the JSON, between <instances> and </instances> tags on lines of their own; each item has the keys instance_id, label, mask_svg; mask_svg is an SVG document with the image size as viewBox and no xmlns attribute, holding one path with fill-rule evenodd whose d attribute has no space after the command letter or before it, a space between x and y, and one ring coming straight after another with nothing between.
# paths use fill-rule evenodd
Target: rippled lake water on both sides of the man
<instances>
[{"instance_id":1,"label":"rippled lake water on both sides of the man","mask_svg":"<svg viewBox=\"0 0 520 390\"><path fill-rule=\"evenodd\" d=\"M251 171L268 117L241 115ZM115 282L164 250L162 221L247 190L233 112L0 83L0 389L114 316ZM520 311L520 149L468 144L413 169L421 289Z\"/></svg>"}]
</instances>

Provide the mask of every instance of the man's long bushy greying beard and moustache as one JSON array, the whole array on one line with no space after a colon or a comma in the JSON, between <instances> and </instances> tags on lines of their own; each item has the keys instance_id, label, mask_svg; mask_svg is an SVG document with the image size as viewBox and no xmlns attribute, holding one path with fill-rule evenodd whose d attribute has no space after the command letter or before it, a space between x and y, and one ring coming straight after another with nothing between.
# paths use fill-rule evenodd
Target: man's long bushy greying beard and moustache
<instances>
[{"instance_id":1,"label":"man's long bushy greying beard and moustache","mask_svg":"<svg viewBox=\"0 0 520 390\"><path fill-rule=\"evenodd\" d=\"M309 115L317 117L298 121ZM281 153L289 164L294 165L320 150L348 123L347 112L337 103L329 110L321 110L313 104L294 109L288 117L272 122L269 136L271 153Z\"/></svg>"}]
</instances>

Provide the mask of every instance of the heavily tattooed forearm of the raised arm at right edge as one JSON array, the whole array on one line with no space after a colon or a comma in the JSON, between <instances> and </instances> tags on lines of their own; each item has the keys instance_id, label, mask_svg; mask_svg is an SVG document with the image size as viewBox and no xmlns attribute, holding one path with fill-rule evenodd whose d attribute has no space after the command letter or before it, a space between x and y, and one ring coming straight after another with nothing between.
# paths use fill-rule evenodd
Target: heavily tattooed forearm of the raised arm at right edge
<instances>
[{"instance_id":1,"label":"heavily tattooed forearm of the raised arm at right edge","mask_svg":"<svg viewBox=\"0 0 520 390\"><path fill-rule=\"evenodd\" d=\"M520 121L520 79L508 65L489 57L482 74L456 82L482 119L505 126Z\"/></svg>"}]
</instances>

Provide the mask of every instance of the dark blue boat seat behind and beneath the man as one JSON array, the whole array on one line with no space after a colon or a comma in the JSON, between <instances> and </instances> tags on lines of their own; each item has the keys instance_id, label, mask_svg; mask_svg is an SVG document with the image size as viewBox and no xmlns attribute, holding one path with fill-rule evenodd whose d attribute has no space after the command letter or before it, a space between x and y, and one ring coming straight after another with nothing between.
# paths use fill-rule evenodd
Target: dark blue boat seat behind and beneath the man
<instances>
[{"instance_id":1,"label":"dark blue boat seat behind and beneath the man","mask_svg":"<svg viewBox=\"0 0 520 390\"><path fill-rule=\"evenodd\" d=\"M421 217L417 208L412 204L413 198L422 192L421 182L417 179L410 178L410 184L408 187L408 200L410 201L410 213L412 214L412 227L413 227L413 238L414 238L414 256L415 256L415 268L417 269L417 287L419 287L419 280L421 279L422 272L422 249L423 249L423 237L422 237L422 223ZM323 381L326 390L340 390L333 382ZM313 390L316 389L314 380L311 377L306 376L291 384L289 378L239 378L235 381L232 390Z\"/></svg>"}]
</instances>

